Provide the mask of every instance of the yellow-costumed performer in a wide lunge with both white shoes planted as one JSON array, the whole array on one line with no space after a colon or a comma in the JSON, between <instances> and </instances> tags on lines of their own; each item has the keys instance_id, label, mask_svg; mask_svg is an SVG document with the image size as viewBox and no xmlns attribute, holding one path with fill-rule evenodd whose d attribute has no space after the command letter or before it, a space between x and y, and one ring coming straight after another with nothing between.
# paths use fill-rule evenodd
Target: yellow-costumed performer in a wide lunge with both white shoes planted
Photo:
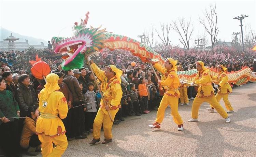
<instances>
[{"instance_id":1,"label":"yellow-costumed performer in a wide lunge with both white shoes planted","mask_svg":"<svg viewBox=\"0 0 256 157\"><path fill-rule=\"evenodd\" d=\"M203 102L210 103L217 112L226 119L226 123L230 123L230 118L228 117L228 114L225 112L223 107L217 102L216 98L214 97L214 90L212 87L212 78L210 76L210 73L207 68L204 67L204 63L202 61L198 61L196 63L196 68L198 71L198 74L196 78L194 79L194 82L191 83L191 86L194 84L199 85L199 88L197 90L197 96L195 100L193 101L192 105L192 119L188 120L188 122L197 122L198 119L198 110L200 105Z\"/></svg>"}]
</instances>

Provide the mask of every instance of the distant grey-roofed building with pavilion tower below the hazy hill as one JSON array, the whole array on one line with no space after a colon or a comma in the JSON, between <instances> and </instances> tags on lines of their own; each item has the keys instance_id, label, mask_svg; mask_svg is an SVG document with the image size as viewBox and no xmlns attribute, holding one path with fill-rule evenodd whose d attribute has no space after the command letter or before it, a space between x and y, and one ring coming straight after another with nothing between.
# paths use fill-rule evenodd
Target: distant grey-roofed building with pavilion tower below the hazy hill
<instances>
[{"instance_id":1,"label":"distant grey-roofed building with pavilion tower below the hazy hill","mask_svg":"<svg viewBox=\"0 0 256 157\"><path fill-rule=\"evenodd\" d=\"M4 41L0 41L1 51L11 51L11 50L23 51L30 46L33 46L35 49L47 48L47 46L44 46L43 42L41 42L40 45L29 45L27 39L25 40L25 42L19 42L19 41L16 42L16 40L19 40L19 38L14 37L12 33L8 38L3 40Z\"/></svg>"}]
</instances>

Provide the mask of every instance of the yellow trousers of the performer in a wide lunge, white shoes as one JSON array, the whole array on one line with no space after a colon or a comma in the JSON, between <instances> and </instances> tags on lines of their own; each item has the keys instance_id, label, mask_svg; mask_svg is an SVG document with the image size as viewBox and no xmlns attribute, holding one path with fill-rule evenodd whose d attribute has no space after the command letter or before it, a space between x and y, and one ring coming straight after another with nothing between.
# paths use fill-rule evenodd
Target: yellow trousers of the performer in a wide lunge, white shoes
<instances>
[{"instance_id":1,"label":"yellow trousers of the performer in a wide lunge, white shoes","mask_svg":"<svg viewBox=\"0 0 256 157\"><path fill-rule=\"evenodd\" d=\"M195 100L193 101L193 104L192 104L192 111L191 111L192 112L191 116L193 119L197 119L199 107L203 102L210 103L223 118L228 117L228 114L223 109L221 104L219 104L218 101L216 100L216 98L212 96L212 97L208 97L208 98L199 98L199 97L195 98Z\"/></svg>"}]
</instances>

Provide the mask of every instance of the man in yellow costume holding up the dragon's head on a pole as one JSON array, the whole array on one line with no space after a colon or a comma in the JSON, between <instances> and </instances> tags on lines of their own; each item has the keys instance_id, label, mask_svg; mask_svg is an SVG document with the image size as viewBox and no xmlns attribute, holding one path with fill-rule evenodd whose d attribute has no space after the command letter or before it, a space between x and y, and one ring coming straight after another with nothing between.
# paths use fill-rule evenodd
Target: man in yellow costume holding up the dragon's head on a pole
<instances>
[{"instance_id":1,"label":"man in yellow costume holding up the dragon's head on a pole","mask_svg":"<svg viewBox=\"0 0 256 157\"><path fill-rule=\"evenodd\" d=\"M121 75L123 74L122 70L119 70L114 65L109 65L104 71L98 68L98 66L91 62L91 67L95 72L96 76L101 81L101 90L103 92L104 99L106 100L107 106L104 106L103 100L100 102L100 109L94 119L93 124L93 140L90 144L95 144L100 141L100 129L103 124L104 130L104 141L102 144L106 144L112 141L112 125L108 111L110 112L112 118L115 118L115 115L120 107L120 101L122 98L122 88L121 88Z\"/></svg>"}]
</instances>

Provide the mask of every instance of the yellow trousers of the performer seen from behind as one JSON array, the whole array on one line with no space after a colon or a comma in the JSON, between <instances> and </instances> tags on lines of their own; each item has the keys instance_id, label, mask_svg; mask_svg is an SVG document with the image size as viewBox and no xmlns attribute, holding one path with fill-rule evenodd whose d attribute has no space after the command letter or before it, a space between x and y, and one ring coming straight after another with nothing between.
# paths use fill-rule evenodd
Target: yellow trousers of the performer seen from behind
<instances>
[{"instance_id":1,"label":"yellow trousers of the performer seen from behind","mask_svg":"<svg viewBox=\"0 0 256 157\"><path fill-rule=\"evenodd\" d=\"M68 140L65 134L56 137L42 134L38 135L38 138L42 142L43 157L60 157L68 147ZM53 143L57 145L55 148L53 148Z\"/></svg>"}]
</instances>

